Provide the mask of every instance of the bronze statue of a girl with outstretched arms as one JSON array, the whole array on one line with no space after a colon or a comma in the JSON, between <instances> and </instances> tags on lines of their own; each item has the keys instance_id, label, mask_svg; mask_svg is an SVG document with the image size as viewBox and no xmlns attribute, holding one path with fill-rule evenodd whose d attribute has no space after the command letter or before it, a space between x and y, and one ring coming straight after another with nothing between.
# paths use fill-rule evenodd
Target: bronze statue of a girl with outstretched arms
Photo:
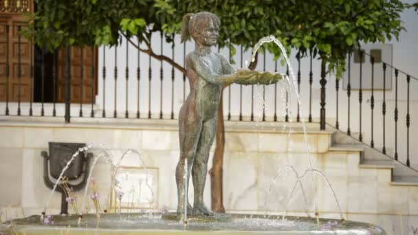
<instances>
[{"instance_id":1,"label":"bronze statue of a girl with outstretched arms","mask_svg":"<svg viewBox=\"0 0 418 235\"><path fill-rule=\"evenodd\" d=\"M187 181L190 169L194 185L193 207L188 212L195 215L212 215L203 204L203 189L208 172L209 150L217 131L217 110L222 87L232 83L241 85L274 84L282 74L239 69L236 71L221 54L210 47L217 43L219 18L210 12L186 14L181 27L181 42L188 35L196 43L196 49L186 57L190 93L179 112L180 159L176 168L177 214L184 212L184 164L188 160Z\"/></svg>"}]
</instances>

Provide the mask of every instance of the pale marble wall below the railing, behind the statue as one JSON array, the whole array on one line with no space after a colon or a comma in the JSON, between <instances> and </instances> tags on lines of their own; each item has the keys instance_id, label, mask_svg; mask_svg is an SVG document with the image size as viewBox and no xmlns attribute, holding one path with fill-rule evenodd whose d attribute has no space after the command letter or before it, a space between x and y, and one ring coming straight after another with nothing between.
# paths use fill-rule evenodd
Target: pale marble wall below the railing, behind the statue
<instances>
[{"instance_id":1,"label":"pale marble wall below the railing, behind the statue","mask_svg":"<svg viewBox=\"0 0 418 235\"><path fill-rule=\"evenodd\" d=\"M0 208L23 208L26 216L41 213L50 193L42 179L41 151L47 150L48 142L85 142L106 144L115 157L122 155L127 148L140 150L146 167L158 169L157 207L175 210L177 189L174 175L179 157L177 127L149 124L145 127L118 127L0 123ZM289 197L296 183L294 173L289 170L281 172L270 190L278 169L286 164L292 165L299 176L309 168L305 139L301 133L296 131L288 137L287 133L274 131L281 128L243 131L236 125L239 124L227 126L225 135L223 201L227 212L263 213L267 205L269 213L280 214L287 210L289 214L306 215L306 207L310 214L317 207L321 216L338 218L339 210L333 194L318 175L307 175L301 181L306 200L300 186ZM358 152L329 152L329 137L327 132L311 131L309 134L311 166L324 172L331 183L344 218L377 223L386 230L398 226L393 219L388 219L391 216L404 215L409 216L404 221L408 218L417 221L418 186L391 186L390 170L359 168ZM91 150L96 154L98 151ZM211 164L212 158L209 159L209 168ZM122 165L140 166L135 155L126 157ZM93 175L103 196L101 203L104 203L110 183L107 163L99 160ZM78 195L81 197L81 192ZM48 212L58 212L60 197L61 194L54 193ZM192 192L189 192L189 197L192 199ZM209 177L204 199L210 205Z\"/></svg>"}]
</instances>

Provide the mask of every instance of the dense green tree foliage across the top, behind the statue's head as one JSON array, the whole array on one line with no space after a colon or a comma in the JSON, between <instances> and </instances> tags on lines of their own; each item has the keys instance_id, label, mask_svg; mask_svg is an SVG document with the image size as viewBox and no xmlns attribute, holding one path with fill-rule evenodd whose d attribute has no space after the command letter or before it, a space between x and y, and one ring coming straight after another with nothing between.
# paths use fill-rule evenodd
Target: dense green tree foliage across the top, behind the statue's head
<instances>
[{"instance_id":1,"label":"dense green tree foliage across the top, behind the statue's head","mask_svg":"<svg viewBox=\"0 0 418 235\"><path fill-rule=\"evenodd\" d=\"M397 38L404 30L399 13L410 7L399 0L36 0L36 6L25 33L50 49L115 45L120 33L138 36L151 49L152 32L163 30L171 41L184 14L206 10L221 18L221 47L233 43L248 49L272 34L287 50L319 55L337 77L346 55L360 43ZM281 54L274 45L267 49L276 59Z\"/></svg>"}]
</instances>

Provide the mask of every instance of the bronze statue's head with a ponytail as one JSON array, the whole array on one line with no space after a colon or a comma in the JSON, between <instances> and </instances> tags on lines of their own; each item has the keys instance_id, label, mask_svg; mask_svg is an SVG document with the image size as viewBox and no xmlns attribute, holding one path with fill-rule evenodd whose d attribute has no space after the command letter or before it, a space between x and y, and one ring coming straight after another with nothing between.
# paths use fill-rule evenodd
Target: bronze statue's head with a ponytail
<instances>
[{"instance_id":1,"label":"bronze statue's head with a ponytail","mask_svg":"<svg viewBox=\"0 0 418 235\"><path fill-rule=\"evenodd\" d=\"M181 43L192 36L199 45L215 45L219 36L218 16L210 12L188 13L183 17L181 25Z\"/></svg>"}]
</instances>

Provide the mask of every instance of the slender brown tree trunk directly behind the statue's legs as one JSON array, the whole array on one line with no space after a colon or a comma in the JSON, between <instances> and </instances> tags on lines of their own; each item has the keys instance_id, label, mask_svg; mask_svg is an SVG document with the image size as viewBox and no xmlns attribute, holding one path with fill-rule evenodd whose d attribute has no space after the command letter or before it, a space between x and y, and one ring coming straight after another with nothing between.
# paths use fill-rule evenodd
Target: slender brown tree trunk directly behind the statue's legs
<instances>
[{"instance_id":1,"label":"slender brown tree trunk directly behind the statue's legs","mask_svg":"<svg viewBox=\"0 0 418 235\"><path fill-rule=\"evenodd\" d=\"M222 89L223 91L223 89ZM223 102L219 101L218 108L218 128L217 128L217 143L214 149L212 160L212 169L209 170L210 175L210 194L211 194L211 208L214 212L225 213L223 208L223 150L225 147L225 128L223 126Z\"/></svg>"}]
</instances>

